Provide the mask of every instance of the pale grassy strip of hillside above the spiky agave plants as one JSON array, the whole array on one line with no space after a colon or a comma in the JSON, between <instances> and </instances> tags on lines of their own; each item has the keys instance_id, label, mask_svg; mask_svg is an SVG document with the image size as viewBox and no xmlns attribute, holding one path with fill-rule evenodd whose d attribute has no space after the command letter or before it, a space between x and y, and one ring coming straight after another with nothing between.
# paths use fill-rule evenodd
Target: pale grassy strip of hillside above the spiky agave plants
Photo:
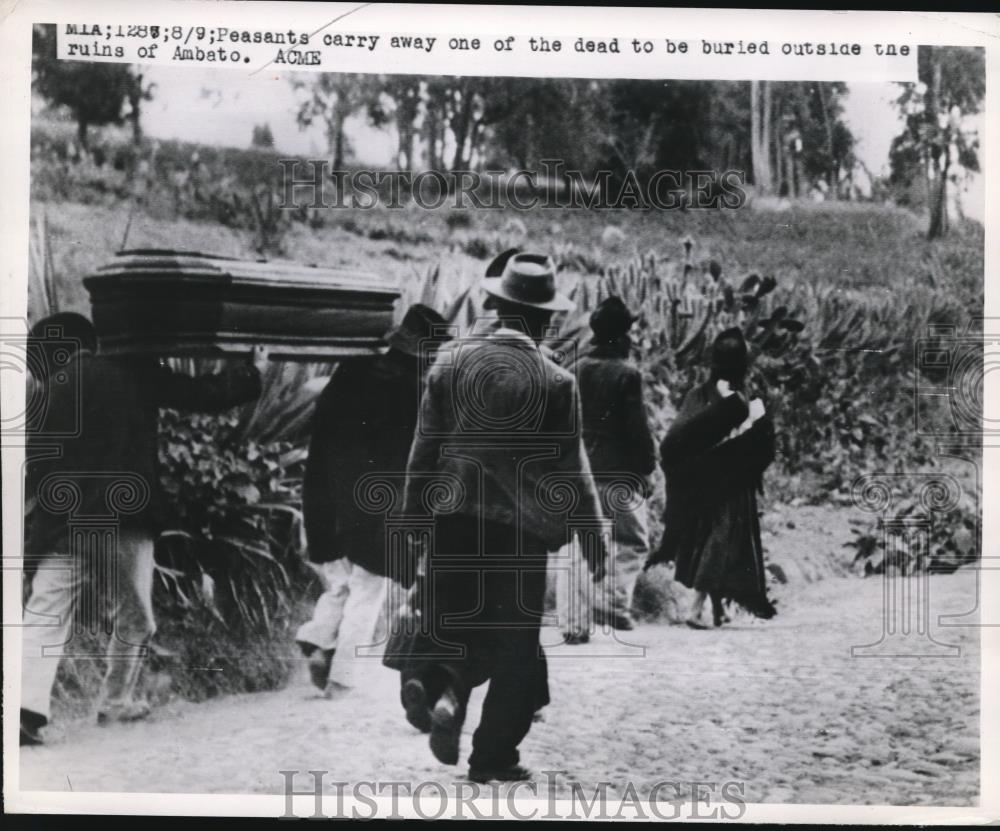
<instances>
[{"instance_id":1,"label":"pale grassy strip of hillside above the spiky agave plants","mask_svg":"<svg viewBox=\"0 0 1000 831\"><path fill-rule=\"evenodd\" d=\"M44 214L60 307L86 312L81 279L114 255L129 224L130 204L84 205L37 200ZM723 264L729 274L771 274L783 290L817 287L872 300L933 293L942 305L969 314L981 308L983 232L970 223L949 239L928 243L919 218L900 208L857 204L795 206L786 211L742 210L644 214L639 212L538 210L373 212L330 210L323 227L289 223L285 256L323 265L357 266L400 281L441 263L445 271L481 273L488 257L507 245L562 252L586 270L650 251L676 257L690 235L701 257ZM33 216L34 218L34 216ZM619 228L624 237L605 234ZM230 256L257 256L250 231L183 217L133 215L127 246L186 248ZM469 253L471 252L471 253ZM37 286L29 317L41 313ZM794 297L789 297L794 301Z\"/></svg>"}]
</instances>

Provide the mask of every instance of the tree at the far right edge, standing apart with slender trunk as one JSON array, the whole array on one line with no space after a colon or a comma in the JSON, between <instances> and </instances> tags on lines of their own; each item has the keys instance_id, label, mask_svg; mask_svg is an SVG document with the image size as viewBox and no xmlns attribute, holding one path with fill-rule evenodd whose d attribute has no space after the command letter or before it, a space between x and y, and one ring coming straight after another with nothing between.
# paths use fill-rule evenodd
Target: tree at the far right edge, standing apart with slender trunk
<instances>
[{"instance_id":1,"label":"tree at the far right edge, standing apart with slender trunk","mask_svg":"<svg viewBox=\"0 0 1000 831\"><path fill-rule=\"evenodd\" d=\"M927 238L948 231L948 179L952 165L979 170L979 139L965 129L986 92L981 47L921 46L918 83L903 84L897 99L906 126L889 151L891 181L909 185L922 177L930 214Z\"/></svg>"}]
</instances>

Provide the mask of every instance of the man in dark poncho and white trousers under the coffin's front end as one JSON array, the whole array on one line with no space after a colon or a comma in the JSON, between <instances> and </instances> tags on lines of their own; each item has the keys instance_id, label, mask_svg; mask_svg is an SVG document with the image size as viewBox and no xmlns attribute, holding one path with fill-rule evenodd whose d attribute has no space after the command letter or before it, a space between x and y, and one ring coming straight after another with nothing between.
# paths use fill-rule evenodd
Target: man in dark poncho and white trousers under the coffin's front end
<instances>
[{"instance_id":1,"label":"man in dark poncho and white trousers under the coffin's front end","mask_svg":"<svg viewBox=\"0 0 1000 831\"><path fill-rule=\"evenodd\" d=\"M357 681L355 650L373 642L392 574L383 517L355 498L369 473L402 473L422 391L421 350L447 336L444 318L417 303L372 360L343 362L316 403L302 486L309 559L324 592L296 634L313 683L333 696Z\"/></svg>"}]
</instances>

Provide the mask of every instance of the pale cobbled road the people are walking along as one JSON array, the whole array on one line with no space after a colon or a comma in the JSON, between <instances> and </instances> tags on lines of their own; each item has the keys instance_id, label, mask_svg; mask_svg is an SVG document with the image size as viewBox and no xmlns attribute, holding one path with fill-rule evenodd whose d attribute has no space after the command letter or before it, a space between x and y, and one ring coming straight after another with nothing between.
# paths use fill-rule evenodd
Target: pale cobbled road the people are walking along
<instances>
[{"instance_id":1,"label":"pale cobbled road the people are walking along","mask_svg":"<svg viewBox=\"0 0 1000 831\"><path fill-rule=\"evenodd\" d=\"M932 620L971 609L974 596L972 571L935 577ZM737 780L750 802L974 804L977 630L932 629L960 657L852 658L852 645L878 639L881 598L880 579L830 579L803 587L773 621L644 625L630 633L644 656L605 657L608 641L551 650L553 704L523 760L565 771L560 797L573 781L620 795L628 781L641 791ZM21 786L281 793L279 770L317 769L328 781L460 779L464 765L438 764L403 720L397 678L378 667L363 693L327 701L303 672L280 692L174 702L146 723L65 725L47 746L22 749ZM463 754L481 701L479 690Z\"/></svg>"}]
</instances>

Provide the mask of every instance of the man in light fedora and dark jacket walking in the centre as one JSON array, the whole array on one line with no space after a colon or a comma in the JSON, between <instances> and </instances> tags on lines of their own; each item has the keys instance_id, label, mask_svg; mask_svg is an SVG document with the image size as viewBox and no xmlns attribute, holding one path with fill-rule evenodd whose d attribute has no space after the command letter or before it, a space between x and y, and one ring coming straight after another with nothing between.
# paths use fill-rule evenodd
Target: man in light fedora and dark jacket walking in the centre
<instances>
[{"instance_id":1,"label":"man in light fedora and dark jacket walking in the centre","mask_svg":"<svg viewBox=\"0 0 1000 831\"><path fill-rule=\"evenodd\" d=\"M429 702L430 747L439 761L458 762L471 689L488 681L469 757L477 782L531 777L518 745L543 671L547 553L565 544L571 515L601 520L576 384L540 347L553 313L572 308L556 292L551 260L514 254L483 288L497 317L431 367L404 499L405 514L426 513L419 482L435 475L458 497L455 510L436 517L427 563L430 631L448 677ZM561 513L556 488L573 491ZM595 580L606 557L597 538L585 547Z\"/></svg>"}]
</instances>

